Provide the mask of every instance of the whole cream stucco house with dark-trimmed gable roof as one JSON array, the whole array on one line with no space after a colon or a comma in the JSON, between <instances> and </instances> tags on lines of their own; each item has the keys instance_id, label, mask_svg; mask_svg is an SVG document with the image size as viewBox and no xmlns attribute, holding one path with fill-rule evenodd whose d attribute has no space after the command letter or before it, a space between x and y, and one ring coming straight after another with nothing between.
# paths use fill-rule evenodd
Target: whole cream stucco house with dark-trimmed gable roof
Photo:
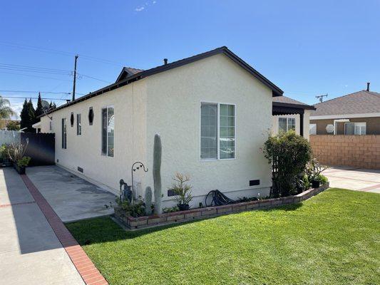
<instances>
[{"instance_id":1,"label":"whole cream stucco house with dark-trimmed gable roof","mask_svg":"<svg viewBox=\"0 0 380 285\"><path fill-rule=\"evenodd\" d=\"M174 204L168 190L176 172L190 175L197 207L215 189L232 199L269 194L271 167L261 147L272 114L303 115L305 109L294 102L276 105L272 98L282 93L221 47L145 71L123 68L110 86L43 115L39 128L56 134L57 165L113 192L120 178L130 185L131 165L143 162L148 172L134 175L141 196L153 186L159 133L163 207Z\"/></svg>"}]
</instances>

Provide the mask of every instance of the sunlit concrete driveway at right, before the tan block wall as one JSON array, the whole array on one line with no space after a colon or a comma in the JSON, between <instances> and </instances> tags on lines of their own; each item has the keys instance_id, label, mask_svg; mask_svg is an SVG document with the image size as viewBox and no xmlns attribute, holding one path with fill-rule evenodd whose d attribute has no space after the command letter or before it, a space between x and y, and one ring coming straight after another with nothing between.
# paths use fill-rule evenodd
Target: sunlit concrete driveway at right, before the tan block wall
<instances>
[{"instance_id":1,"label":"sunlit concrete driveway at right, before the tan block wall","mask_svg":"<svg viewBox=\"0 0 380 285\"><path fill-rule=\"evenodd\" d=\"M353 167L331 167L323 172L330 187L380 193L380 170Z\"/></svg>"}]
</instances>

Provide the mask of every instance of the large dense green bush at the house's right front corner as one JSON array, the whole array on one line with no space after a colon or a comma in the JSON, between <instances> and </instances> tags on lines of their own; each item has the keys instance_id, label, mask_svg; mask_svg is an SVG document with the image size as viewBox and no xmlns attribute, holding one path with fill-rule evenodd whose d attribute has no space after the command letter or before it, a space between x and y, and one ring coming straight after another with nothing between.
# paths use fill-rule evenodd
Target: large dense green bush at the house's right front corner
<instances>
[{"instance_id":1,"label":"large dense green bush at the house's right front corner","mask_svg":"<svg viewBox=\"0 0 380 285\"><path fill-rule=\"evenodd\" d=\"M297 193L297 182L312 157L309 142L291 130L269 137L264 144L264 155L272 164L272 197Z\"/></svg>"}]
</instances>

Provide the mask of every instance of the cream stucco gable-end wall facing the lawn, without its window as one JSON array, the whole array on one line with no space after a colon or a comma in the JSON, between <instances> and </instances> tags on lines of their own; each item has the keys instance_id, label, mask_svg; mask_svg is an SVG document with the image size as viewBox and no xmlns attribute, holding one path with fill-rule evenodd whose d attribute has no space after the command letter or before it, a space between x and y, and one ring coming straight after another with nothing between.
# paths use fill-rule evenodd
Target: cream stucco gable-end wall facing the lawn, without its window
<instances>
[{"instance_id":1,"label":"cream stucco gable-end wall facing the lawn, without its window","mask_svg":"<svg viewBox=\"0 0 380 285\"><path fill-rule=\"evenodd\" d=\"M271 168L261 147L272 125L272 90L230 58L220 54L150 76L147 81L148 166L153 164L153 139L161 135L163 206L175 172L191 177L192 204L205 203L210 190L235 199L269 193ZM200 102L236 104L235 160L200 161ZM152 172L146 184L153 187ZM260 186L250 187L250 180Z\"/></svg>"}]
</instances>

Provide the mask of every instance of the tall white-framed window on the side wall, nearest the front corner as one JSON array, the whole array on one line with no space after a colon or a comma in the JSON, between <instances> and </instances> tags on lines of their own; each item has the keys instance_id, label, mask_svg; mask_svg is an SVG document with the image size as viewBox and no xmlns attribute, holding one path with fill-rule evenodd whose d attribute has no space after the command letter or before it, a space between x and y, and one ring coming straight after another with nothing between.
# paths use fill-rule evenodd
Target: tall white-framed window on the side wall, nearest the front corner
<instances>
[{"instance_id":1,"label":"tall white-framed window on the side wall, nearest the front corner","mask_svg":"<svg viewBox=\"0 0 380 285\"><path fill-rule=\"evenodd\" d=\"M115 110L113 106L102 108L102 155L113 157Z\"/></svg>"}]
</instances>

